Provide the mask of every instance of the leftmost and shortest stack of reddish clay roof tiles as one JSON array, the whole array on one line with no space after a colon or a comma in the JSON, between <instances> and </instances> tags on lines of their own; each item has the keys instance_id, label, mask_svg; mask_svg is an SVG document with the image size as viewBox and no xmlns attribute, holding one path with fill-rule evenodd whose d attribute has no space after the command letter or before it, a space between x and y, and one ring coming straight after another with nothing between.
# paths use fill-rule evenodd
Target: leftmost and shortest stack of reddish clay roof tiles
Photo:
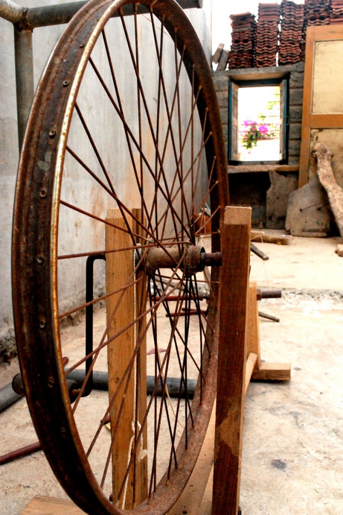
<instances>
[{"instance_id":1,"label":"leftmost and shortest stack of reddish clay roof tiles","mask_svg":"<svg viewBox=\"0 0 343 515\"><path fill-rule=\"evenodd\" d=\"M250 12L231 14L231 50L229 68L250 68L254 62L255 16Z\"/></svg>"}]
</instances>

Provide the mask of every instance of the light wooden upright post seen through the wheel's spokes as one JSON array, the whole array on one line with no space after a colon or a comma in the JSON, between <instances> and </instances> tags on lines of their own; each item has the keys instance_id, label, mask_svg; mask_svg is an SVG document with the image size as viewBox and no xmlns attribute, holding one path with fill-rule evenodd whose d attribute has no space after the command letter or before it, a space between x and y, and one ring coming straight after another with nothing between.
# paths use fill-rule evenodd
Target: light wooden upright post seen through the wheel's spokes
<instances>
[{"instance_id":1,"label":"light wooden upright post seen through the wheel's spokes","mask_svg":"<svg viewBox=\"0 0 343 515\"><path fill-rule=\"evenodd\" d=\"M105 239L106 250L113 250L118 248L132 247L132 240L128 234L127 227L118 209L111 209L107 216L107 221L111 222L118 227L106 225ZM122 230L122 229L125 229ZM127 283L133 281L133 250L124 250L120 252L109 252L106 254L106 291L111 291L121 288ZM109 323L113 310L122 296L122 291L117 294L111 295L106 300L107 323ZM134 303L134 287L128 287L117 306L116 314L111 322L110 330L108 333L109 339L117 332L124 329L132 322L135 316L135 303ZM131 325L126 331L115 338L107 347L108 357L108 376L109 376L109 400L114 395L117 389L117 384L121 380L127 365L132 357L135 347L135 327ZM131 466L130 473L127 480L125 493L118 499L119 490L122 487L123 479L127 470L128 460L130 459L131 438L134 436L134 422L136 415L135 398L136 398L136 370L132 371L129 386L125 395L125 402L122 408L121 415L118 417L119 409L123 399L126 381L124 381L121 391L119 392L114 405L110 411L111 419L111 433L113 435L114 426L118 421L118 428L116 431L116 438L112 450L112 485L113 485L113 503L118 502L119 507L123 507L125 501L125 508L131 509L133 505L141 503L141 487L135 487L133 491L133 470L135 468L135 479L139 485L139 478L141 472L140 465L135 463L135 467ZM140 385L138 385L140 387ZM144 398L146 403L146 387L144 390ZM125 497L125 499L124 499ZM134 499L135 497L135 499Z\"/></svg>"}]
</instances>

